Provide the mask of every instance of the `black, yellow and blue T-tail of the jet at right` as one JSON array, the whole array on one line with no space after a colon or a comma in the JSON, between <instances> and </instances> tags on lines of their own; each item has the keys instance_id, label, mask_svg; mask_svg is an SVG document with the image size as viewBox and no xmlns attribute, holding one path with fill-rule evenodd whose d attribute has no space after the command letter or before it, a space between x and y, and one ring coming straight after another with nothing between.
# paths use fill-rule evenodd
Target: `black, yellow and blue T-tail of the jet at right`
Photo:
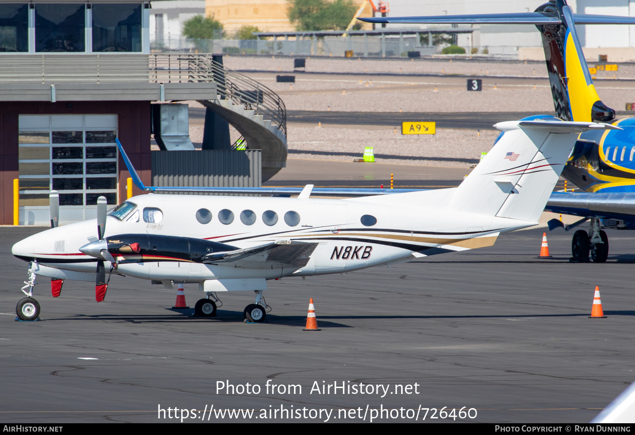
<instances>
[{"instance_id":1,"label":"black, yellow and blue T-tail of the jet at right","mask_svg":"<svg viewBox=\"0 0 635 435\"><path fill-rule=\"evenodd\" d=\"M533 24L542 34L556 115L565 121L584 122L610 121L615 117L615 110L599 99L575 23L635 24L635 17L573 14L566 0L550 0L534 12L526 13L358 19L370 23Z\"/></svg>"}]
</instances>

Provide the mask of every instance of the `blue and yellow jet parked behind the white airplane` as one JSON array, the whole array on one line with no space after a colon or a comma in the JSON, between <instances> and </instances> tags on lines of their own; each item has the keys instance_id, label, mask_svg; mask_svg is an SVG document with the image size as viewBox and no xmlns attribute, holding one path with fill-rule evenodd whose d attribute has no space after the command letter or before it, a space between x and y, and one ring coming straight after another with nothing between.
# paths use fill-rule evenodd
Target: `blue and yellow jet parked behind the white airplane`
<instances>
[{"instance_id":1,"label":"blue and yellow jet parked behind the white airplane","mask_svg":"<svg viewBox=\"0 0 635 435\"><path fill-rule=\"evenodd\" d=\"M533 12L433 17L359 18L373 23L531 24L542 35L556 116L564 121L610 122L615 110L599 98L582 53L575 25L635 24L635 17L573 13L566 0L550 0ZM547 117L546 115L543 117ZM540 116L532 116L537 119ZM624 130L582 133L563 176L586 193L554 192L545 210L582 219L575 231L572 261L605 262L608 237L604 229L635 229L635 118L615 121ZM553 219L549 229L564 226Z\"/></svg>"}]
</instances>

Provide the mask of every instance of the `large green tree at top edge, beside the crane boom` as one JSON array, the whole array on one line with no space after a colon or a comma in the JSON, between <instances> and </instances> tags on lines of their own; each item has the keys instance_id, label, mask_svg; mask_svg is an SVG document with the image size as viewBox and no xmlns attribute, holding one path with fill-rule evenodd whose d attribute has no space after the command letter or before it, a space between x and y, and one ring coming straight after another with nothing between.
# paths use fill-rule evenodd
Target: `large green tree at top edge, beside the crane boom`
<instances>
[{"instance_id":1,"label":"large green tree at top edge, beside the crane boom","mask_svg":"<svg viewBox=\"0 0 635 435\"><path fill-rule=\"evenodd\" d=\"M295 29L302 31L344 30L358 7L352 0L291 0L287 13ZM359 29L361 25L356 25Z\"/></svg>"}]
</instances>

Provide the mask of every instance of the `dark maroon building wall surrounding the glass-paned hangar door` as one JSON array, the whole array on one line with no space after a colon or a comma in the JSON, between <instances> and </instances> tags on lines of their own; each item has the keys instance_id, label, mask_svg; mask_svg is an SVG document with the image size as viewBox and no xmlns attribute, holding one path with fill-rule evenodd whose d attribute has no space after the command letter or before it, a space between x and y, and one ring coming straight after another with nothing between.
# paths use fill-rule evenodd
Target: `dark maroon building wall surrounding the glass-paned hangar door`
<instances>
[{"instance_id":1,"label":"dark maroon building wall surrounding the glass-paned hangar door","mask_svg":"<svg viewBox=\"0 0 635 435\"><path fill-rule=\"evenodd\" d=\"M13 224L13 180L18 178L18 115L117 114L119 140L145 185L152 184L150 102L0 102L0 224ZM126 199L128 168L119 156L119 201ZM133 196L141 194L133 187Z\"/></svg>"}]
</instances>

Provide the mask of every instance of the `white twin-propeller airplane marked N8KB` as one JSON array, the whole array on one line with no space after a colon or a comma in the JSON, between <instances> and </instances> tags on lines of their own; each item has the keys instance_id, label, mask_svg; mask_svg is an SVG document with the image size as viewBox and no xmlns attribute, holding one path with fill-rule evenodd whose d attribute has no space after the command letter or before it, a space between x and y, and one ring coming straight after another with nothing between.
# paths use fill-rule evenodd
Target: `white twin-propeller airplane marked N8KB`
<instances>
[{"instance_id":1,"label":"white twin-propeller airplane marked N8KB","mask_svg":"<svg viewBox=\"0 0 635 435\"><path fill-rule=\"evenodd\" d=\"M53 297L60 295L64 279L96 281L100 302L109 271L162 281L168 288L198 283L206 293L196 304L199 316L215 316L218 291L252 290L255 303L244 316L262 322L269 308L262 298L267 279L355 271L491 246L501 232L537 224L580 132L620 129L535 118L496 124L503 133L494 147L451 189L349 199L310 197L312 185L298 197L145 194L109 212L100 197L97 220L62 227L55 226L58 206L51 206L53 228L13 245L13 255L30 263L18 317L34 320L40 314L32 297L36 274L51 277ZM272 191L145 187L119 140L117 146L145 191Z\"/></svg>"}]
</instances>

